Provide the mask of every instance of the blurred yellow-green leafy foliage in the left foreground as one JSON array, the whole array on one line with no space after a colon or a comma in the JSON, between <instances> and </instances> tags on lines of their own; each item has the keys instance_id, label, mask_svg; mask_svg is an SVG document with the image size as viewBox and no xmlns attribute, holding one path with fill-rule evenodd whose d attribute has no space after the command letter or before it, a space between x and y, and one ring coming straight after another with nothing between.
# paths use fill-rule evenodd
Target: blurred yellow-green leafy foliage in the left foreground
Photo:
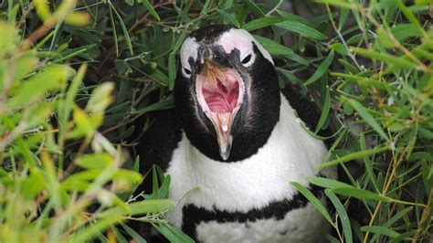
<instances>
[{"instance_id":1,"label":"blurred yellow-green leafy foliage in the left foreground","mask_svg":"<svg viewBox=\"0 0 433 243\"><path fill-rule=\"evenodd\" d=\"M100 231L141 215L164 227L159 215L174 203L157 197L125 202L142 175L122 168L121 147L98 132L114 84L86 86L88 64L77 71L65 64L89 47L51 42L48 48L59 35L57 26L64 25L59 21L66 22L64 28L78 27L89 14L73 12L74 1L62 2L53 13L44 1L34 4L43 19L37 29L15 20L37 20L32 5L25 10L10 2L0 21L0 241L104 240ZM72 141L79 149L68 147ZM109 238L121 238L112 230Z\"/></svg>"}]
</instances>

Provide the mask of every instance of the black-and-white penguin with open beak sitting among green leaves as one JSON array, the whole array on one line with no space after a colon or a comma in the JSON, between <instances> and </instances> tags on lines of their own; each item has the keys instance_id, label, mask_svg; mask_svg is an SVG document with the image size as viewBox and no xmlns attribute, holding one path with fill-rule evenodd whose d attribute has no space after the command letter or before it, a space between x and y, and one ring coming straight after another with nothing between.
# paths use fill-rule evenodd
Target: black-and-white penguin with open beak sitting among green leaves
<instances>
[{"instance_id":1,"label":"black-and-white penguin with open beak sitting among green leaves","mask_svg":"<svg viewBox=\"0 0 433 243\"><path fill-rule=\"evenodd\" d=\"M171 175L171 224L200 242L322 241L327 223L290 185L326 203L306 180L327 152L306 131L320 117L314 105L281 92L269 52L234 26L195 30L180 64L174 110L155 112L138 146L143 173L158 164ZM149 177L139 192L152 191Z\"/></svg>"}]
</instances>

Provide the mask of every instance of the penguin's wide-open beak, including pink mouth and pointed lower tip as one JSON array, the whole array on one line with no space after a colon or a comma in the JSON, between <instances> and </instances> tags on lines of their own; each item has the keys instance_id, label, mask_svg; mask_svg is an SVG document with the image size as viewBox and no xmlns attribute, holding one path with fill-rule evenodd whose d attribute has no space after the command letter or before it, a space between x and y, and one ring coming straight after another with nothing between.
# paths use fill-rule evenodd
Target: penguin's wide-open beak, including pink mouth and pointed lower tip
<instances>
[{"instance_id":1,"label":"penguin's wide-open beak, including pink mouth and pointed lower tip","mask_svg":"<svg viewBox=\"0 0 433 243\"><path fill-rule=\"evenodd\" d=\"M244 83L236 69L228 69L206 58L196 77L197 100L216 131L219 154L223 160L230 155L231 129L239 111Z\"/></svg>"}]
</instances>

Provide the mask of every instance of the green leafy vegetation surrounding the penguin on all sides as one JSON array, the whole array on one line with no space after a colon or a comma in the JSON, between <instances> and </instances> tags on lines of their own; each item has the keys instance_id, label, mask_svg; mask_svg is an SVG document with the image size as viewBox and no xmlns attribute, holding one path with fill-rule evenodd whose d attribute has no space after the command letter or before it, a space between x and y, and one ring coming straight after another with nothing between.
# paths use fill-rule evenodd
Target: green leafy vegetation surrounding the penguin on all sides
<instances>
[{"instance_id":1,"label":"green leafy vegetation surrounding the penguin on all sides","mask_svg":"<svg viewBox=\"0 0 433 243\"><path fill-rule=\"evenodd\" d=\"M184 38L216 23L255 34L280 87L317 103L313 136L333 128L322 168L347 180L309 180L335 213L292 184L335 228L327 238L431 241L432 4L364 2L0 2L0 241L143 242L127 219L191 241L164 220L169 176L154 168L153 194L131 197L144 174L124 149L152 125L139 118L173 107Z\"/></svg>"}]
</instances>

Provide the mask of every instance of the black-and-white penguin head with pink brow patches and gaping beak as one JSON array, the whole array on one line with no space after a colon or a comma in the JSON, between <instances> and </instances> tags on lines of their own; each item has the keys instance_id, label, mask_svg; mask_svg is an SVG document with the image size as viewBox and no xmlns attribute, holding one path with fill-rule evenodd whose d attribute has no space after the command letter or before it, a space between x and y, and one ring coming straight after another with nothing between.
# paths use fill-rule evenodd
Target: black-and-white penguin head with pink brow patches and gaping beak
<instances>
[{"instance_id":1,"label":"black-and-white penguin head with pink brow patches and gaping beak","mask_svg":"<svg viewBox=\"0 0 433 243\"><path fill-rule=\"evenodd\" d=\"M246 149L240 143L251 142L241 139L264 136L266 143L280 93L272 58L254 37L234 26L202 27L185 39L180 66L174 105L195 147L218 161L237 161L263 145Z\"/></svg>"}]
</instances>

